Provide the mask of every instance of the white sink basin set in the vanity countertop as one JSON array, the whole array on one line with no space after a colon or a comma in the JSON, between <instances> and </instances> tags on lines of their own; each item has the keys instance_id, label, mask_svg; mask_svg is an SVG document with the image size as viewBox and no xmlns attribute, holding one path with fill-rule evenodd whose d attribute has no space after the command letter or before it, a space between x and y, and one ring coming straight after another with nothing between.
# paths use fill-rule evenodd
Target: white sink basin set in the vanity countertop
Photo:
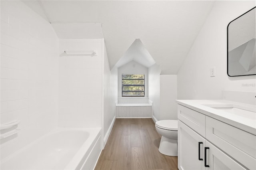
<instances>
[{"instance_id":1,"label":"white sink basin set in the vanity countertop","mask_svg":"<svg viewBox=\"0 0 256 170\"><path fill-rule=\"evenodd\" d=\"M232 115L236 115L246 119L256 120L256 108L253 108L253 107L244 107L244 106L233 105L233 104L213 104L213 105L209 104L204 106L211 107L219 111L224 111L226 113L230 113Z\"/></svg>"}]
</instances>

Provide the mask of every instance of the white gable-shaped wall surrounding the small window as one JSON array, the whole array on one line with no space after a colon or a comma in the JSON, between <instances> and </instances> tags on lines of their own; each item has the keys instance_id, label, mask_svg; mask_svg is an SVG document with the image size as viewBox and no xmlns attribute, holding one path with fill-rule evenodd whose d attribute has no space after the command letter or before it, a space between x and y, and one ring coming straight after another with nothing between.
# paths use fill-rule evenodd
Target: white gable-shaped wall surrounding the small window
<instances>
[{"instance_id":1,"label":"white gable-shaped wall surrounding the small window","mask_svg":"<svg viewBox=\"0 0 256 170\"><path fill-rule=\"evenodd\" d=\"M122 74L145 74L145 97L148 97L148 68L130 61L118 68L118 97L122 97Z\"/></svg>"}]
</instances>

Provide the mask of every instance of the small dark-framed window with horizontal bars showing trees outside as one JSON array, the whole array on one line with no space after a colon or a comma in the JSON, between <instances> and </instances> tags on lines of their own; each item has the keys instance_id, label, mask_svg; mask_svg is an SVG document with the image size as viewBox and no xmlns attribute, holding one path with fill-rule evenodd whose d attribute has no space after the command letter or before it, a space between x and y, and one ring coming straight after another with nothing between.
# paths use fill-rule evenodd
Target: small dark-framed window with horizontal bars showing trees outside
<instances>
[{"instance_id":1,"label":"small dark-framed window with horizontal bars showing trees outside","mask_svg":"<svg viewBox=\"0 0 256 170\"><path fill-rule=\"evenodd\" d=\"M145 75L122 74L122 97L144 97Z\"/></svg>"}]
</instances>

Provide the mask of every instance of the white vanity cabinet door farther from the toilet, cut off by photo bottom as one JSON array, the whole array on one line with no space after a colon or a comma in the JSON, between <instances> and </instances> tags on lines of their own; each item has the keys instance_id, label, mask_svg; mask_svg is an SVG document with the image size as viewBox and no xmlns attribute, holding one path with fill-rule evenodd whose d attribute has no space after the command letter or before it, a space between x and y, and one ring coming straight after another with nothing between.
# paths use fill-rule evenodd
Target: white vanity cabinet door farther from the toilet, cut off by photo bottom
<instances>
[{"instance_id":1,"label":"white vanity cabinet door farther from the toilet, cut off by photo bottom","mask_svg":"<svg viewBox=\"0 0 256 170\"><path fill-rule=\"evenodd\" d=\"M206 140L206 170L246 170L224 152Z\"/></svg>"}]
</instances>

